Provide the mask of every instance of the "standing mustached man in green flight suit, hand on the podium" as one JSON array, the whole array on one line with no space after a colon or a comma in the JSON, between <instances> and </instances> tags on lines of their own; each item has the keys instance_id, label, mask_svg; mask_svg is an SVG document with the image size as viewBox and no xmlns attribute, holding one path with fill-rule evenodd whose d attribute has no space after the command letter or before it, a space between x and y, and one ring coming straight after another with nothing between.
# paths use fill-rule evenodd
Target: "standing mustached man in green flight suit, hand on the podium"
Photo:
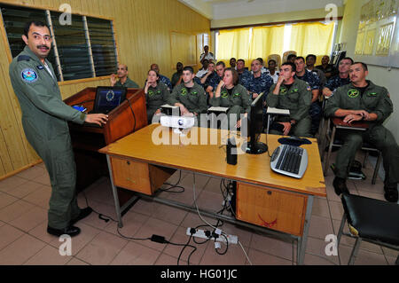
<instances>
[{"instance_id":1,"label":"standing mustached man in green flight suit, hand on the podium","mask_svg":"<svg viewBox=\"0 0 399 283\"><path fill-rule=\"evenodd\" d=\"M84 114L62 101L57 77L46 59L52 41L46 24L28 22L22 39L27 46L12 60L9 72L20 101L27 141L43 159L51 179L47 232L72 237L81 232L74 223L92 209L77 205L76 169L67 121L101 125L108 118L106 114Z\"/></svg>"}]
</instances>

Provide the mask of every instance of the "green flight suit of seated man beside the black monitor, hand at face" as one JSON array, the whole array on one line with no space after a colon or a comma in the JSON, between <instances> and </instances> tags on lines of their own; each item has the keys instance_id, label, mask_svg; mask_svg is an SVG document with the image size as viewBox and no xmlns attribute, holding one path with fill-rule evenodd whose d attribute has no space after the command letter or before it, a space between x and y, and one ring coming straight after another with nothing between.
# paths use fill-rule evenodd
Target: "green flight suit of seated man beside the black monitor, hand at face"
<instances>
[{"instance_id":1,"label":"green flight suit of seated man beside the black monitor, hand at face","mask_svg":"<svg viewBox=\"0 0 399 283\"><path fill-rule=\"evenodd\" d=\"M276 83L270 87L266 98L267 106L290 110L289 116L277 116L275 122L290 122L295 120L295 124L293 124L288 135L311 138L309 107L312 103L312 92L309 83L295 79L289 89L282 84L278 95L273 94L275 88ZM282 135L283 132L270 130L270 134Z\"/></svg>"}]
</instances>

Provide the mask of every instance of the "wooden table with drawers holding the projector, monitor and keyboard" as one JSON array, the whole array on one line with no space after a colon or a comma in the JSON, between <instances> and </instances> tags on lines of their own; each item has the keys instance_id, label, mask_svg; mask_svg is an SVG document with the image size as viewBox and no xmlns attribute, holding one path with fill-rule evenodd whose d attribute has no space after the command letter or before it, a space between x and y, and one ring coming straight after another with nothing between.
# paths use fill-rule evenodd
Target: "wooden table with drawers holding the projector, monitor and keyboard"
<instances>
[{"instance_id":1,"label":"wooden table with drawers holding the projector, monitor and keyboard","mask_svg":"<svg viewBox=\"0 0 399 283\"><path fill-rule=\"evenodd\" d=\"M168 169L181 169L236 181L238 220L230 219L231 222L261 226L262 231L282 232L298 240L297 262L303 263L314 196L326 196L317 140L309 138L311 145L301 145L308 151L309 164L304 176L296 179L272 171L268 153L241 152L237 165L227 164L223 145L228 137L226 130L196 127L186 137L180 137L171 129L152 124L100 149L99 152L107 156L120 227L117 186L153 195L173 173ZM246 138L235 138L238 148L246 141ZM260 141L266 143L266 138L271 154L279 145L278 138L282 137L263 134ZM186 205L183 207L187 208Z\"/></svg>"}]
</instances>

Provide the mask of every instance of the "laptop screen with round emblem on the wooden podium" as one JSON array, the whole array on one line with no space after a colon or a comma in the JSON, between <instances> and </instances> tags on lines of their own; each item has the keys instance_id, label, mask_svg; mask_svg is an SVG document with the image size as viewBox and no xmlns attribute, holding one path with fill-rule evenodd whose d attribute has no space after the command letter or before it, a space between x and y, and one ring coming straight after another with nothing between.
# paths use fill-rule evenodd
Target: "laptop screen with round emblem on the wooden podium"
<instances>
[{"instance_id":1,"label":"laptop screen with round emblem on the wooden podium","mask_svg":"<svg viewBox=\"0 0 399 283\"><path fill-rule=\"evenodd\" d=\"M126 98L126 91L126 88L98 87L93 112L109 113L113 108L120 106Z\"/></svg>"}]
</instances>

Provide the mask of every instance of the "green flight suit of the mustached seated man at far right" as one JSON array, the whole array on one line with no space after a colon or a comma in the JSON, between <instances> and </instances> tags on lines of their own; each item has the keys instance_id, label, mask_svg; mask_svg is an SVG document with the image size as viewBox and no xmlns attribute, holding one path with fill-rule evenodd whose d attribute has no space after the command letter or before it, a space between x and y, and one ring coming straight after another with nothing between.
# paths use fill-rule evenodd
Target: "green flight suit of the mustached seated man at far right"
<instances>
[{"instance_id":1,"label":"green flight suit of the mustached seated man at far right","mask_svg":"<svg viewBox=\"0 0 399 283\"><path fill-rule=\"evenodd\" d=\"M371 81L361 95L352 83L341 86L334 91L325 105L325 116L332 117L340 109L365 110L378 115L376 121L366 122L369 129L365 131L339 130L337 135L343 139L335 162L337 177L348 177L349 164L355 159L356 151L363 142L375 145L382 153L383 165L386 172L385 182L393 185L399 182L399 146L392 133L382 123L394 111L387 89L375 85Z\"/></svg>"}]
</instances>

